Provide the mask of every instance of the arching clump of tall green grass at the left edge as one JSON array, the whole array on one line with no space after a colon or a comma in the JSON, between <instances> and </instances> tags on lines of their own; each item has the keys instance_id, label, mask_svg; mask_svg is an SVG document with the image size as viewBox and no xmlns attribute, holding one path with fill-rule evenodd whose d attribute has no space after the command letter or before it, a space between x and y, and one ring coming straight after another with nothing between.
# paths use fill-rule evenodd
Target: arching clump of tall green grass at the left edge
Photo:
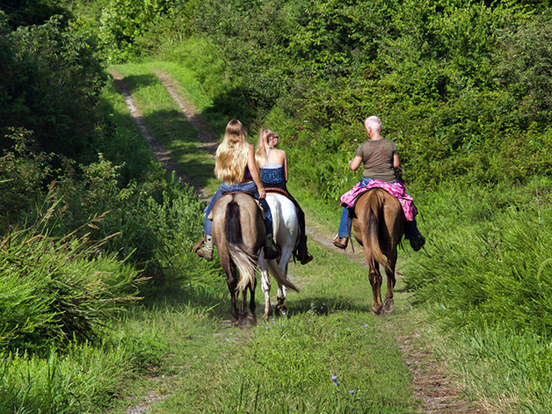
<instances>
[{"instance_id":1,"label":"arching clump of tall green grass at the left edge","mask_svg":"<svg viewBox=\"0 0 552 414\"><path fill-rule=\"evenodd\" d=\"M54 237L50 221L64 208L48 199L41 220L12 230L0 243L0 344L8 349L40 351L73 338L95 339L109 317L132 299L137 273L117 259L102 255L101 244L78 230ZM103 217L86 223L97 228Z\"/></svg>"}]
</instances>

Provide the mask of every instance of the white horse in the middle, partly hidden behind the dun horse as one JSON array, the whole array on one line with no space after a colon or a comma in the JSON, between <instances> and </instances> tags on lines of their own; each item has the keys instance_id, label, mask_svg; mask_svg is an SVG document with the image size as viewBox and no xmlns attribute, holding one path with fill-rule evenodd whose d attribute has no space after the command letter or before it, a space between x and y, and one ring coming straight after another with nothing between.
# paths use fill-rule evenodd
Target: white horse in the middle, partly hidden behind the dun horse
<instances>
[{"instance_id":1,"label":"white horse in the middle, partly hidden behind the dun horse","mask_svg":"<svg viewBox=\"0 0 552 414\"><path fill-rule=\"evenodd\" d=\"M279 282L279 279L283 277L288 280L288 262L299 243L299 224L297 221L297 210L295 210L293 201L285 195L278 193L268 193L266 201L272 213L274 240L279 246L281 254L278 259L273 260L265 259L264 253L259 255L262 291L264 293L264 319L268 319L273 313L270 306L270 276L268 275L268 271L278 282L276 315L279 316L281 312L286 311L284 301L286 300L288 289ZM295 290L299 291L297 288Z\"/></svg>"}]
</instances>

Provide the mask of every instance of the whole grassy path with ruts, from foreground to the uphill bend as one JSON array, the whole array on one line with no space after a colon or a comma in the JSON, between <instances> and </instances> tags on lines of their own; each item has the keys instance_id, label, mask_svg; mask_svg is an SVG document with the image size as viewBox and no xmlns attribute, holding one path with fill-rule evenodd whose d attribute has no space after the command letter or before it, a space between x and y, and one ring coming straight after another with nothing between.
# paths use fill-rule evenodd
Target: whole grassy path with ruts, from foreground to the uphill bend
<instances>
[{"instance_id":1,"label":"whole grassy path with ruts, from foreground to the uphill bend","mask_svg":"<svg viewBox=\"0 0 552 414\"><path fill-rule=\"evenodd\" d=\"M198 109L182 88L181 68L150 63L111 73L158 159L202 197L212 194L218 139L201 117L201 99L195 99ZM308 224L315 261L290 266L302 292L288 296L286 317L242 332L201 314L201 326L186 326L181 335L182 321L171 308L150 314L164 341L170 338L170 351L162 371L144 385L147 396L130 400L126 413L485 412L458 397L411 329L415 316L406 294L397 294L393 317L371 315L359 250L342 254L331 245L328 226Z\"/></svg>"}]
</instances>

